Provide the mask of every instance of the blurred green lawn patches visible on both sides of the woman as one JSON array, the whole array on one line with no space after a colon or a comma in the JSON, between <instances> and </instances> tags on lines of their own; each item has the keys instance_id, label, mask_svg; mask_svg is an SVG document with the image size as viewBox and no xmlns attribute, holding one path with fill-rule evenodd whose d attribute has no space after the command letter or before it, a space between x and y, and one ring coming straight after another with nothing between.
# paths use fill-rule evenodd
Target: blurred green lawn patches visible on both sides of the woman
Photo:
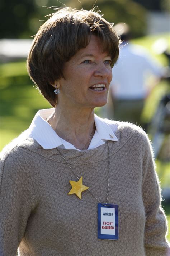
<instances>
[{"instance_id":1,"label":"blurred green lawn patches visible on both sides of the woman","mask_svg":"<svg viewBox=\"0 0 170 256\"><path fill-rule=\"evenodd\" d=\"M152 50L152 44L159 36L142 37L133 40L134 43L145 46L151 55L159 60L164 66L167 60L164 56L156 55ZM162 34L162 38L168 39L169 35ZM26 71L26 60L13 63L0 64L1 86L0 86L0 150L21 131L27 129L38 109L50 108L50 104L44 100L38 90L33 87ZM147 99L143 111L143 121L150 121L157 107L159 99L167 90L167 84L161 82L156 86ZM100 114L100 109L96 112ZM160 178L161 187L170 184L170 164L156 161L157 173ZM170 218L170 206L163 204L167 217ZM170 232L168 239L170 241Z\"/></svg>"}]
</instances>

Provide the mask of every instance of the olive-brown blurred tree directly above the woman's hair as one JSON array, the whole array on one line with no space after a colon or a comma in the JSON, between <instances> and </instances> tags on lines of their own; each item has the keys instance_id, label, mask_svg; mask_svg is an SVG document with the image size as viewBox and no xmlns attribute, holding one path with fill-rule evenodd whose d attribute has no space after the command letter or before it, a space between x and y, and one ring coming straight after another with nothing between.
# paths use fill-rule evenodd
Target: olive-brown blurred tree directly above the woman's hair
<instances>
[{"instance_id":1,"label":"olive-brown blurred tree directly above the woman's hair","mask_svg":"<svg viewBox=\"0 0 170 256\"><path fill-rule=\"evenodd\" d=\"M146 33L146 9L131 0L97 0L94 1L95 6L101 10L104 18L109 22L128 23L132 30L132 37L140 37ZM90 10L93 7L91 0L81 0L75 3L74 0L70 0L69 5L71 7Z\"/></svg>"}]
</instances>

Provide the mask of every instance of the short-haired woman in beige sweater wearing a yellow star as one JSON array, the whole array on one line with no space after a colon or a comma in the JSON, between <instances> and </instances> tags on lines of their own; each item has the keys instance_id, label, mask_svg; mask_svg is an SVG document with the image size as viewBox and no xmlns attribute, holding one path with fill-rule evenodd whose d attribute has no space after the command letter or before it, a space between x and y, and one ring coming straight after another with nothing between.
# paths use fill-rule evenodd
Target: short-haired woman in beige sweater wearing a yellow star
<instances>
[{"instance_id":1,"label":"short-haired woman in beige sweater wearing a yellow star","mask_svg":"<svg viewBox=\"0 0 170 256\"><path fill-rule=\"evenodd\" d=\"M54 107L2 153L0 255L166 255L166 219L142 129L103 120L119 39L93 11L63 8L27 67Z\"/></svg>"}]
</instances>

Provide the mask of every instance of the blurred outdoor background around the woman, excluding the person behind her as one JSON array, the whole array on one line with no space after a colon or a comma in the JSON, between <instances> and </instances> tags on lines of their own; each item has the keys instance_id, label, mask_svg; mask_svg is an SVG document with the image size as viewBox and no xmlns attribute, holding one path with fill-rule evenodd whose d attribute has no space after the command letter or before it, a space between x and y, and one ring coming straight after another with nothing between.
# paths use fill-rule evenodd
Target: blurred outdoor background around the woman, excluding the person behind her
<instances>
[{"instance_id":1,"label":"blurred outdoor background around the woman, excluding the person behind her","mask_svg":"<svg viewBox=\"0 0 170 256\"><path fill-rule=\"evenodd\" d=\"M96 10L101 10L109 22L128 24L131 28L130 43L145 48L148 58L159 63L164 70L164 75L154 84L152 77L147 81L152 90L145 97L141 123L154 147L163 207L170 217L169 0L82 0L81 3L78 0L62 0L62 3L55 0L1 0L0 150L29 127L39 109L51 107L30 81L25 64L33 36L48 19L46 15L54 12L50 7L90 10L93 5L98 6ZM95 111L101 117L109 117L110 109L108 105ZM170 234L168 239L170 241Z\"/></svg>"}]
</instances>

